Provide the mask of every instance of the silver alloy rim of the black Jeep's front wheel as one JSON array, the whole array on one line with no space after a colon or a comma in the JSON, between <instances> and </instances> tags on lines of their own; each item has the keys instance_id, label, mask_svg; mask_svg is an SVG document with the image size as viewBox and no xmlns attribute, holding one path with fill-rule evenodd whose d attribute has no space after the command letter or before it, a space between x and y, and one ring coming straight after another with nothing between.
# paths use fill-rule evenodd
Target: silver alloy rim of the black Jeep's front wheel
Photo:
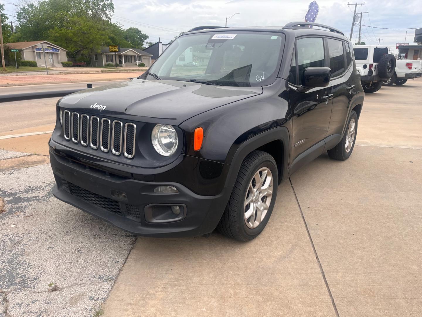
<instances>
[{"instance_id":1,"label":"silver alloy rim of the black Jeep's front wheel","mask_svg":"<svg viewBox=\"0 0 422 317\"><path fill-rule=\"evenodd\" d=\"M244 219L246 226L259 226L270 208L273 196L273 175L268 167L259 169L249 182L245 196Z\"/></svg>"}]
</instances>

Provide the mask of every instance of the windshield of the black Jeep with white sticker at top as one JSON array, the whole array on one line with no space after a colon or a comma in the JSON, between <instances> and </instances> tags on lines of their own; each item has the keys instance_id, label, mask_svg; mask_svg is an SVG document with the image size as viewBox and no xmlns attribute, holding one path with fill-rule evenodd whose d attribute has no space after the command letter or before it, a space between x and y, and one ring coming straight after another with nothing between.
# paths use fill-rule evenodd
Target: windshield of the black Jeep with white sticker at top
<instances>
[{"instance_id":1,"label":"windshield of the black Jeep with white sticker at top","mask_svg":"<svg viewBox=\"0 0 422 317\"><path fill-rule=\"evenodd\" d=\"M274 82L284 35L230 33L233 34L207 32L180 36L155 61L149 73L160 79L209 85L244 87Z\"/></svg>"}]
</instances>

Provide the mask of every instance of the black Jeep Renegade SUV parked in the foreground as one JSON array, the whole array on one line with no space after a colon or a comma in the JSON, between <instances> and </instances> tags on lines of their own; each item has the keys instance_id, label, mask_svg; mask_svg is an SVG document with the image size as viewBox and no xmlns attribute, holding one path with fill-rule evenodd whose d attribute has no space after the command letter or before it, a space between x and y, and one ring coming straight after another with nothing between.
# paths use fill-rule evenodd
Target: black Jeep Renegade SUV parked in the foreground
<instances>
[{"instance_id":1,"label":"black Jeep Renegade SUV parked in the foreground","mask_svg":"<svg viewBox=\"0 0 422 317\"><path fill-rule=\"evenodd\" d=\"M350 156L363 98L332 27L196 27L140 77L60 99L53 193L137 235L251 240L283 180Z\"/></svg>"}]
</instances>

